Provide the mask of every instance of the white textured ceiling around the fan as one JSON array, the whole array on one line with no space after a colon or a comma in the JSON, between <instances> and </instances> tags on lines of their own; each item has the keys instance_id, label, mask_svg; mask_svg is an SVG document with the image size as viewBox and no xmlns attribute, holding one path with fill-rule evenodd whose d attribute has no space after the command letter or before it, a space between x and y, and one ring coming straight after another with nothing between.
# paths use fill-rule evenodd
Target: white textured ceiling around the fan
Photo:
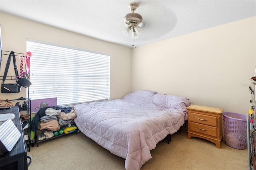
<instances>
[{"instance_id":1,"label":"white textured ceiling around the fan","mask_svg":"<svg viewBox=\"0 0 256 170\"><path fill-rule=\"evenodd\" d=\"M256 16L256 0L0 0L0 11L132 47L131 2L143 18L137 47Z\"/></svg>"}]
</instances>

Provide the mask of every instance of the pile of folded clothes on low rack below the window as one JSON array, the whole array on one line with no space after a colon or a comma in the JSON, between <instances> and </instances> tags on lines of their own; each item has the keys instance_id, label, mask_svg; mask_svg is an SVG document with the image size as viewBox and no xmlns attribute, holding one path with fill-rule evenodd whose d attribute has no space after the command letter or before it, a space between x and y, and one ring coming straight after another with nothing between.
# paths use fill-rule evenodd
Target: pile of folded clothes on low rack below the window
<instances>
[{"instance_id":1,"label":"pile of folded clothes on low rack below the window","mask_svg":"<svg viewBox=\"0 0 256 170\"><path fill-rule=\"evenodd\" d=\"M65 133L73 132L76 127L70 127L70 124L76 118L76 110L73 107L43 107L41 108L38 113L34 116L33 120L30 123L31 132L36 132L36 130L44 130L47 129L47 136L46 138L51 138L53 132L62 129L65 129ZM69 126L65 126L69 125ZM32 135L31 135L32 137ZM44 137L40 136L42 140ZM30 138L30 140L34 139L34 137Z\"/></svg>"}]
</instances>

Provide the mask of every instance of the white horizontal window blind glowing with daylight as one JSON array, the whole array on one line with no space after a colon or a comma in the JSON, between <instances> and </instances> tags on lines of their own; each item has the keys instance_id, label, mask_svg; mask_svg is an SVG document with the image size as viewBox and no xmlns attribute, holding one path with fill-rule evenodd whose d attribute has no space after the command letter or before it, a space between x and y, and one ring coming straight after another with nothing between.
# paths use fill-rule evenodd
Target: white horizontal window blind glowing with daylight
<instances>
[{"instance_id":1,"label":"white horizontal window blind glowing with daylight","mask_svg":"<svg viewBox=\"0 0 256 170\"><path fill-rule=\"evenodd\" d=\"M57 97L57 105L109 100L110 55L27 40L29 97Z\"/></svg>"}]
</instances>

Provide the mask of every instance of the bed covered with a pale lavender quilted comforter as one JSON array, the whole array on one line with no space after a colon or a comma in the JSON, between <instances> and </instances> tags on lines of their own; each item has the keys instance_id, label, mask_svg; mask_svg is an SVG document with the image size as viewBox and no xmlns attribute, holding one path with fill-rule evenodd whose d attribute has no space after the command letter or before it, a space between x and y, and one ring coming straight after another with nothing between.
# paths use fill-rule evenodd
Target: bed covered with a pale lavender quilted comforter
<instances>
[{"instance_id":1,"label":"bed covered with a pale lavender quilted comforter","mask_svg":"<svg viewBox=\"0 0 256 170\"><path fill-rule=\"evenodd\" d=\"M122 99L74 106L77 127L113 154L125 158L126 170L139 170L150 150L188 119L184 97L138 90Z\"/></svg>"}]
</instances>

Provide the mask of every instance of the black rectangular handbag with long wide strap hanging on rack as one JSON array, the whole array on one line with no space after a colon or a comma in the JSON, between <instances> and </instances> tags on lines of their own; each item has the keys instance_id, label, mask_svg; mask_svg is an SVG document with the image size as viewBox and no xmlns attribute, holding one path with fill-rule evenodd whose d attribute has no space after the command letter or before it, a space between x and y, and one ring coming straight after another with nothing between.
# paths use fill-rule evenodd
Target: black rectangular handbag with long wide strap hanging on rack
<instances>
[{"instance_id":1,"label":"black rectangular handbag with long wide strap hanging on rack","mask_svg":"<svg viewBox=\"0 0 256 170\"><path fill-rule=\"evenodd\" d=\"M15 58L14 52L11 51L9 54L7 63L6 63L5 70L4 70L4 76L3 76L2 86L1 86L2 93L19 93L20 89L21 89L21 86L18 84L15 84L15 83L4 84L4 81L6 79L6 75L7 75L9 66L10 66L11 59L13 59L14 72L15 72L16 78L18 79L18 77L19 77L17 65L16 65L16 58Z\"/></svg>"}]
</instances>

